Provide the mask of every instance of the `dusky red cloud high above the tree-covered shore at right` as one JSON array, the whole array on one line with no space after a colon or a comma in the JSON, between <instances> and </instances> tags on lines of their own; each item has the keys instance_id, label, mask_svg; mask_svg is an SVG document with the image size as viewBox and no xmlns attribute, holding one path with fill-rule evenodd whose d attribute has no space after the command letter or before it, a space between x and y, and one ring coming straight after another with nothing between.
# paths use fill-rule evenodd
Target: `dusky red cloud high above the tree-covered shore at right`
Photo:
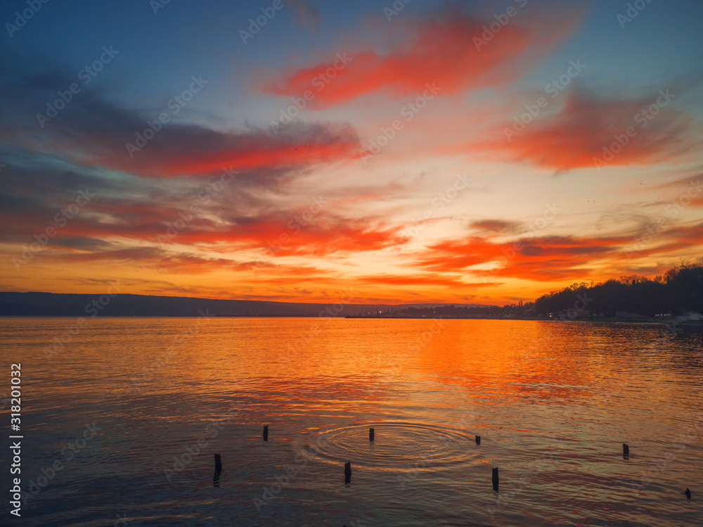
<instances>
[{"instance_id":1,"label":"dusky red cloud high above the tree-covered shore at right","mask_svg":"<svg viewBox=\"0 0 703 527\"><path fill-rule=\"evenodd\" d=\"M690 122L666 108L670 101L662 94L638 101L599 101L572 94L559 113L538 116L524 126L507 123L496 139L462 149L494 157L507 154L514 161L555 170L664 162L691 146L685 134ZM648 108L657 102L664 106L652 115Z\"/></svg>"}]
</instances>

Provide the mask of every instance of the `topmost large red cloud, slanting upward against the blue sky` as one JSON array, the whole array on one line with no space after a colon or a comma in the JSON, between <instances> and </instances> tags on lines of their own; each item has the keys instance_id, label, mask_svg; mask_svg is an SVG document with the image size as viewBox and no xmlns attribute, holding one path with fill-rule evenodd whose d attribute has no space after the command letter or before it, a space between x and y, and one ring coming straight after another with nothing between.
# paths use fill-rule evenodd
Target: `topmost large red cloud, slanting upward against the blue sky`
<instances>
[{"instance_id":1,"label":"topmost large red cloud, slanting upward against the blue sky","mask_svg":"<svg viewBox=\"0 0 703 527\"><path fill-rule=\"evenodd\" d=\"M311 106L327 108L377 91L389 90L396 96L422 94L428 84L436 84L445 95L504 84L529 67L533 58L526 58L526 51L542 53L569 32L576 20L569 14L569 20L557 21L545 31L525 25L527 15L517 7L514 16L489 40L483 40L484 34L491 35L485 26L496 20L481 20L452 9L437 20L413 23L411 36L387 54L373 50L338 53L334 60L293 70L259 88L278 96L301 96L309 90Z\"/></svg>"}]
</instances>

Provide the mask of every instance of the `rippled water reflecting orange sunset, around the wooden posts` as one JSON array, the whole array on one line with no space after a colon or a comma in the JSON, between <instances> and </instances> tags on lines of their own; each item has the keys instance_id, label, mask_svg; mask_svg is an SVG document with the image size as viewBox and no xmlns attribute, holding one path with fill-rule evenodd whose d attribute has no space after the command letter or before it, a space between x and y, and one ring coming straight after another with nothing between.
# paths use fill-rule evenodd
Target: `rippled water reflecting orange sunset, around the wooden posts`
<instances>
[{"instance_id":1,"label":"rippled water reflecting orange sunset, around the wooden posts","mask_svg":"<svg viewBox=\"0 0 703 527\"><path fill-rule=\"evenodd\" d=\"M22 364L26 494L17 520L4 399L2 525L703 524L700 336L645 324L98 317L52 345L75 322L0 319L4 397L10 364Z\"/></svg>"}]
</instances>

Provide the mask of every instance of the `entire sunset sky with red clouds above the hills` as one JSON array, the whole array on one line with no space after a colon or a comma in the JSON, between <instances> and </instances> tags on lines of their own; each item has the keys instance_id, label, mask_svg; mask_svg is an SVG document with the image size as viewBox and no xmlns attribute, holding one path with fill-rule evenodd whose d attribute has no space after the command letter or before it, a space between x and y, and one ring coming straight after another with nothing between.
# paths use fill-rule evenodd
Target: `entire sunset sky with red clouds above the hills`
<instances>
[{"instance_id":1,"label":"entire sunset sky with red clouds above the hills","mask_svg":"<svg viewBox=\"0 0 703 527\"><path fill-rule=\"evenodd\" d=\"M0 23L0 291L503 305L702 261L700 1Z\"/></svg>"}]
</instances>

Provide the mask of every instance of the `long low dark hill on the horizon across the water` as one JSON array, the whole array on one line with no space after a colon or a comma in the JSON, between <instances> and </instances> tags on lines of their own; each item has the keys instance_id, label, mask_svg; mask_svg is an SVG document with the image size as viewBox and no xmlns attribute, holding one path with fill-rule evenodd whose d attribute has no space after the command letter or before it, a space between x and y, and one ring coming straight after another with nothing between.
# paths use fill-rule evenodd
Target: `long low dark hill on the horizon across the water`
<instances>
[{"instance_id":1,"label":"long low dark hill on the horizon across the water","mask_svg":"<svg viewBox=\"0 0 703 527\"><path fill-rule=\"evenodd\" d=\"M2 317L197 317L198 312L230 317L318 317L331 312L337 317L358 315L372 310L385 312L406 307L439 307L446 304L313 304L269 302L265 300L215 300L178 296L148 296L117 294L110 298L101 294L72 293L14 293L0 292ZM109 301L108 301L109 300ZM93 302L97 303L94 305ZM486 307L477 304L454 304ZM102 309L101 309L102 308ZM328 311L329 310L329 311Z\"/></svg>"}]
</instances>

